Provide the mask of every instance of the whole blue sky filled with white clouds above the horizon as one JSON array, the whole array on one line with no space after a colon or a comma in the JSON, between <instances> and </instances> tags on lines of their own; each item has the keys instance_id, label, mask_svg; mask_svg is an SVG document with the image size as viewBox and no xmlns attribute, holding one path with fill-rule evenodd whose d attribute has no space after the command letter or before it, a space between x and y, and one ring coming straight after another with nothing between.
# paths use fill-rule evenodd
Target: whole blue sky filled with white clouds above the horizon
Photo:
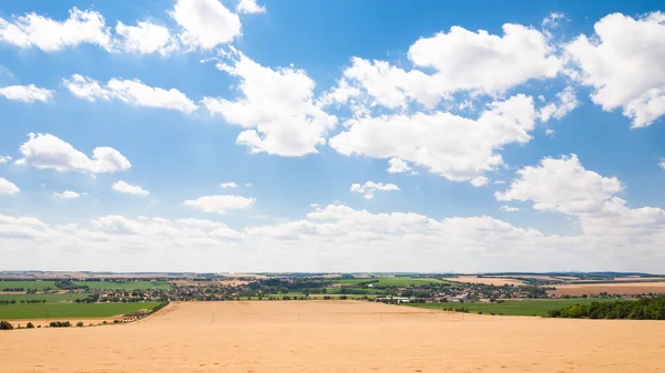
<instances>
[{"instance_id":1,"label":"whole blue sky filled with white clouds above the horizon","mask_svg":"<svg viewBox=\"0 0 665 373\"><path fill-rule=\"evenodd\" d=\"M657 272L659 10L3 3L0 269Z\"/></svg>"}]
</instances>

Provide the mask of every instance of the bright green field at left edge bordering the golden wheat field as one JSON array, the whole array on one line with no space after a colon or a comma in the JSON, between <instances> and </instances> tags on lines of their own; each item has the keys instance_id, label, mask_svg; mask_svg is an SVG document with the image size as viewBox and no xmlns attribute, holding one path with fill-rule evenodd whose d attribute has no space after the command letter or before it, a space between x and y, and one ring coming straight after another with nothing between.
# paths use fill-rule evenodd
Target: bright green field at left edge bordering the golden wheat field
<instances>
[{"instance_id":1,"label":"bright green field at left edge bordering the golden wheat field","mask_svg":"<svg viewBox=\"0 0 665 373\"><path fill-rule=\"evenodd\" d=\"M153 309L160 302L0 305L0 320L108 318Z\"/></svg>"}]
</instances>

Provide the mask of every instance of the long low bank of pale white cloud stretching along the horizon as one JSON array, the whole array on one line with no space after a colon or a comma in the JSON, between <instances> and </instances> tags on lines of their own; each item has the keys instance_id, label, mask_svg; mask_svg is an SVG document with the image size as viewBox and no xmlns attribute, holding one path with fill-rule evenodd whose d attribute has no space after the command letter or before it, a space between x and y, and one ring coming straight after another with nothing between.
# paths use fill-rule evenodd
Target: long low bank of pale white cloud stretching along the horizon
<instances>
[{"instance_id":1,"label":"long low bank of pale white cloud stretching along the horizon","mask_svg":"<svg viewBox=\"0 0 665 373\"><path fill-rule=\"evenodd\" d=\"M548 271L575 262L586 270L657 271L662 262L654 260L653 247L663 237L634 235L627 242L602 235L544 235L489 216L433 219L344 205L314 206L301 219L241 230L203 219L108 215L89 224L50 226L0 215L0 247L11 253L3 262L8 269L75 263L117 271L463 272ZM28 255L43 252L45 242L55 257ZM94 267L100 255L108 255L103 268Z\"/></svg>"}]
</instances>

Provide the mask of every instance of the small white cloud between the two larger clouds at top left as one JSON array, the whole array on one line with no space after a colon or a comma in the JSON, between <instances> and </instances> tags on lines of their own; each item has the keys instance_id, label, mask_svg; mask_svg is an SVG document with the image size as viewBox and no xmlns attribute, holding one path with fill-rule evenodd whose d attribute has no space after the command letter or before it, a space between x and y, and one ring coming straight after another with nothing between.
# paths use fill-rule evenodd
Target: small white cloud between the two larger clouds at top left
<instances>
[{"instance_id":1,"label":"small white cloud between the two larger clouds at top left","mask_svg":"<svg viewBox=\"0 0 665 373\"><path fill-rule=\"evenodd\" d=\"M136 22L136 25L117 21L115 33L115 46L126 52L167 55L180 48L167 28L146 21Z\"/></svg>"}]
</instances>

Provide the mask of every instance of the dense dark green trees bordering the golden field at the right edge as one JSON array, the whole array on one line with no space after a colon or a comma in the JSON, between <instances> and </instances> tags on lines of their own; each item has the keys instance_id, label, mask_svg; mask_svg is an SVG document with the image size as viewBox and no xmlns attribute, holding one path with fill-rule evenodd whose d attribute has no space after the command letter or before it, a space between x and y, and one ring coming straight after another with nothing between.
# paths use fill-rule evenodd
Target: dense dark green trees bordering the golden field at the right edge
<instances>
[{"instance_id":1,"label":"dense dark green trees bordering the golden field at the right edge","mask_svg":"<svg viewBox=\"0 0 665 373\"><path fill-rule=\"evenodd\" d=\"M571 319L665 320L665 297L574 304L548 314Z\"/></svg>"}]
</instances>

